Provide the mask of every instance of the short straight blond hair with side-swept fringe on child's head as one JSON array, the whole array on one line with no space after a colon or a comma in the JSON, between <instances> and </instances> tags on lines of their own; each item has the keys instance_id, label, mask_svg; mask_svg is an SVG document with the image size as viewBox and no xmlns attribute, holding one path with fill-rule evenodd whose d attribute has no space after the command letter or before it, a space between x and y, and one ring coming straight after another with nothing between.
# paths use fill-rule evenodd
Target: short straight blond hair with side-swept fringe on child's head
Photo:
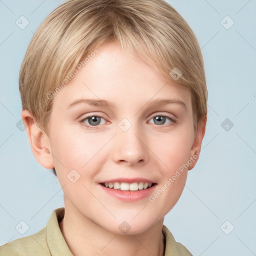
<instances>
[{"instance_id":1,"label":"short straight blond hair with side-swept fringe on child's head","mask_svg":"<svg viewBox=\"0 0 256 256\"><path fill-rule=\"evenodd\" d=\"M197 131L198 121L207 115L202 54L189 25L164 0L67 0L54 9L35 31L21 65L22 109L48 134L53 96L77 65L86 63L90 50L113 40L124 53L135 52L163 76L189 88ZM173 70L178 76L170 75Z\"/></svg>"}]
</instances>

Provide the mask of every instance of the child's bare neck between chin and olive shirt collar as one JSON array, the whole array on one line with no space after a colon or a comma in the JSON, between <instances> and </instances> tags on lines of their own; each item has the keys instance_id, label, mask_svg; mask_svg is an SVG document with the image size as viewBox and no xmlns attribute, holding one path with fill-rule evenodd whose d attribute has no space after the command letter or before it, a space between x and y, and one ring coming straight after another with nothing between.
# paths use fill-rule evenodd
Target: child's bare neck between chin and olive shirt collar
<instances>
[{"instance_id":1,"label":"child's bare neck between chin and olive shirt collar","mask_svg":"<svg viewBox=\"0 0 256 256\"><path fill-rule=\"evenodd\" d=\"M163 219L143 233L120 235L102 228L83 215L77 217L70 213L65 208L59 227L74 256L163 256Z\"/></svg>"}]
</instances>

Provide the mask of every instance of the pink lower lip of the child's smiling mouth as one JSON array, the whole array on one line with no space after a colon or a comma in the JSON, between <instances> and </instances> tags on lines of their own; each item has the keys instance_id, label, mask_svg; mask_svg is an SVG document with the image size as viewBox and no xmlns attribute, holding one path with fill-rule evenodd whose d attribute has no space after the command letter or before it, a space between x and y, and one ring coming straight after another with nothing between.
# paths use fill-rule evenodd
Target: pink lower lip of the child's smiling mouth
<instances>
[{"instance_id":1,"label":"pink lower lip of the child's smiling mouth","mask_svg":"<svg viewBox=\"0 0 256 256\"><path fill-rule=\"evenodd\" d=\"M136 190L136 191L130 191L130 190L122 191L122 190L117 190L117 189L113 189L113 188L108 188L101 184L99 184L99 186L107 194L113 196L114 198L117 198L117 199L123 200L123 201L132 202L132 201L138 201L145 197L148 197L153 192L156 184L147 189L141 189L141 190Z\"/></svg>"}]
</instances>

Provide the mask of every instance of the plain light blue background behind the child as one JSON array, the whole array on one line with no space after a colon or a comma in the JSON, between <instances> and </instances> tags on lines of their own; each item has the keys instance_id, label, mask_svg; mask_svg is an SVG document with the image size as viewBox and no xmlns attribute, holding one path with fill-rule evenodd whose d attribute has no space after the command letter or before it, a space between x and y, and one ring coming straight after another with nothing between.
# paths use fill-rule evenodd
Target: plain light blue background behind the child
<instances>
[{"instance_id":1,"label":"plain light blue background behind the child","mask_svg":"<svg viewBox=\"0 0 256 256\"><path fill-rule=\"evenodd\" d=\"M37 163L16 127L21 61L32 32L61 2L0 0L0 244L37 232L63 206L57 178ZM256 1L168 2L198 38L209 98L201 156L164 224L193 255L256 255ZM24 29L15 24L21 15L29 20ZM220 23L226 15L234 21L229 29ZM229 131L221 126L226 118L234 124ZM23 235L15 229L21 220L29 225Z\"/></svg>"}]
</instances>

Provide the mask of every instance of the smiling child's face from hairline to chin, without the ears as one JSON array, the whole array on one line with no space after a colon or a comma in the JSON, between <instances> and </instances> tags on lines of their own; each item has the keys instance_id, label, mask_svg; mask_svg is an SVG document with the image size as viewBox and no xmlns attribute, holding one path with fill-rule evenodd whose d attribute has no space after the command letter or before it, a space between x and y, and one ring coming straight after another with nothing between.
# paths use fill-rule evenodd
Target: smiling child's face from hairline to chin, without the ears
<instances>
[{"instance_id":1,"label":"smiling child's face from hairline to chin, without the ears","mask_svg":"<svg viewBox=\"0 0 256 256\"><path fill-rule=\"evenodd\" d=\"M66 210L139 233L183 190L195 153L191 95L116 42L98 51L54 96L50 151Z\"/></svg>"}]
</instances>

